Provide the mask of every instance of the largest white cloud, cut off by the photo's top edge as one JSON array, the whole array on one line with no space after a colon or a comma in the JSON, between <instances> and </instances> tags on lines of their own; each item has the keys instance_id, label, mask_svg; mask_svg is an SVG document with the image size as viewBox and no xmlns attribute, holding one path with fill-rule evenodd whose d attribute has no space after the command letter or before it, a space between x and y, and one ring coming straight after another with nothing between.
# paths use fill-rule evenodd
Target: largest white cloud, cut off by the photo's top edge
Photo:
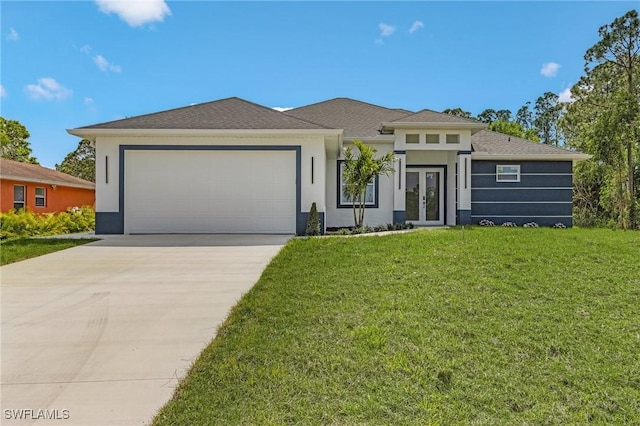
<instances>
[{"instance_id":1,"label":"largest white cloud, cut off by the photo's top edge","mask_svg":"<svg viewBox=\"0 0 640 426\"><path fill-rule=\"evenodd\" d=\"M115 13L131 27L150 22L162 22L171 10L164 0L95 0L100 12Z\"/></svg>"}]
</instances>

